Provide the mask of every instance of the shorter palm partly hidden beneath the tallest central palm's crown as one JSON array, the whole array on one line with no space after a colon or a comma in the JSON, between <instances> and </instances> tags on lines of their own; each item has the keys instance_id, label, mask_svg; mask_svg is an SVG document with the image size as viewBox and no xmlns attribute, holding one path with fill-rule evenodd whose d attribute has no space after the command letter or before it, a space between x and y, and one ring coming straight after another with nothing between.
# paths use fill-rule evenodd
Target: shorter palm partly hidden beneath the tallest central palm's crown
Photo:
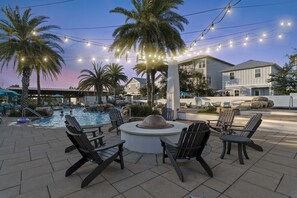
<instances>
[{"instance_id":1,"label":"shorter palm partly hidden beneath the tallest central palm's crown","mask_svg":"<svg viewBox=\"0 0 297 198\"><path fill-rule=\"evenodd\" d=\"M147 65L144 63L140 63L135 65L135 67L133 68L133 70L136 71L137 75L147 75L147 79L150 79L151 84L147 85L147 87L149 87L150 92L148 93L148 95L150 94L150 104L154 105L154 94L155 94L155 90L156 90L156 86L155 86L155 79L156 79L156 73L157 72L161 72L162 74L165 75L165 73L167 72L168 69L168 65L166 65L163 61L157 61L151 64L151 67L147 68Z\"/></svg>"}]
</instances>

